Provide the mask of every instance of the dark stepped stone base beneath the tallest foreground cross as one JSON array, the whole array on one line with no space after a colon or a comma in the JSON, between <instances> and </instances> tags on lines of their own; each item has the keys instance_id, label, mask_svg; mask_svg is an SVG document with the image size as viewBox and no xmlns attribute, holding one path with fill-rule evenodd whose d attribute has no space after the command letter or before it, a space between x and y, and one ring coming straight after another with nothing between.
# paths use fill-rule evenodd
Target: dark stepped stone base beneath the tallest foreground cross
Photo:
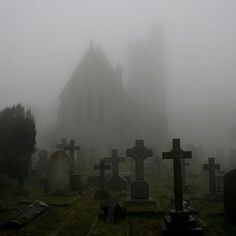
<instances>
[{"instance_id":1,"label":"dark stepped stone base beneath the tallest foreground cross","mask_svg":"<svg viewBox=\"0 0 236 236\"><path fill-rule=\"evenodd\" d=\"M161 224L162 234L164 236L203 236L203 230L197 227L197 222L190 215L189 211L171 210L168 216L165 216Z\"/></svg>"}]
</instances>

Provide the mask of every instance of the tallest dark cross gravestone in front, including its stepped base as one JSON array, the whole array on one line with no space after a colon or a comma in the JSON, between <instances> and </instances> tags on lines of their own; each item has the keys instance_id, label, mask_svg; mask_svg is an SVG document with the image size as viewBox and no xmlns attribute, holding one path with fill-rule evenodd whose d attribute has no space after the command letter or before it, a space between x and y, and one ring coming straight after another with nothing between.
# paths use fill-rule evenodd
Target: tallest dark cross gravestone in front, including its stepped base
<instances>
[{"instance_id":1,"label":"tallest dark cross gravestone in front, including its stepped base","mask_svg":"<svg viewBox=\"0 0 236 236\"><path fill-rule=\"evenodd\" d=\"M161 224L164 236L202 236L203 230L197 227L197 222L191 212L184 208L183 183L181 159L191 158L192 153L183 151L180 147L180 139L173 139L173 147L170 152L163 152L163 159L173 159L174 167L174 195L175 209L170 210L168 216Z\"/></svg>"}]
</instances>

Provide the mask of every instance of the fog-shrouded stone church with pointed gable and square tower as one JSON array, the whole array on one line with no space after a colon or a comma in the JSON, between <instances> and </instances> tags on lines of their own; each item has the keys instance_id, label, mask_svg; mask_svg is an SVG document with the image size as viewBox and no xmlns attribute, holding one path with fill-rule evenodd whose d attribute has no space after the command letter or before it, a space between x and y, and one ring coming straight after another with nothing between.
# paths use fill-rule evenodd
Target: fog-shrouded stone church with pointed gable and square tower
<instances>
[{"instance_id":1,"label":"fog-shrouded stone church with pointed gable and square tower","mask_svg":"<svg viewBox=\"0 0 236 236\"><path fill-rule=\"evenodd\" d=\"M165 87L150 41L129 46L128 88L121 66L114 69L100 47L89 47L60 94L59 138L75 139L98 156L112 148L124 153L135 139L158 152L165 146Z\"/></svg>"}]
</instances>

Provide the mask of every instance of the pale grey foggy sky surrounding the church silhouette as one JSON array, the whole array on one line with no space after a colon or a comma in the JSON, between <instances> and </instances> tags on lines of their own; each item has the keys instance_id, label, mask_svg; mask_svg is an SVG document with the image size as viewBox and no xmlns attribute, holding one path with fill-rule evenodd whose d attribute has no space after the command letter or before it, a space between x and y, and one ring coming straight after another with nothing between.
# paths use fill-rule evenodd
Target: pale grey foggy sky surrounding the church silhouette
<instances>
[{"instance_id":1,"label":"pale grey foggy sky surrounding the church silhouette","mask_svg":"<svg viewBox=\"0 0 236 236\"><path fill-rule=\"evenodd\" d=\"M0 108L22 103L38 131L56 124L58 96L93 40L127 85L127 45L163 32L170 137L213 152L235 146L233 0L1 0Z\"/></svg>"}]
</instances>

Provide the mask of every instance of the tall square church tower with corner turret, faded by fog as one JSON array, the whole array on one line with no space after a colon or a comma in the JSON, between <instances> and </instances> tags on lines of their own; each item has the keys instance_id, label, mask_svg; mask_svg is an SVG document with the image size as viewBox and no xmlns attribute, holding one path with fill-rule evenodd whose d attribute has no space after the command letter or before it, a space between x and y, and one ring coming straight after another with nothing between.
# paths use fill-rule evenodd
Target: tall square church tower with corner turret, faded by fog
<instances>
[{"instance_id":1,"label":"tall square church tower with corner turret, faded by fog","mask_svg":"<svg viewBox=\"0 0 236 236\"><path fill-rule=\"evenodd\" d=\"M128 91L138 103L136 111L140 118L136 121L134 136L162 148L168 131L163 33L160 27L152 28L149 39L130 42L128 56Z\"/></svg>"}]
</instances>

